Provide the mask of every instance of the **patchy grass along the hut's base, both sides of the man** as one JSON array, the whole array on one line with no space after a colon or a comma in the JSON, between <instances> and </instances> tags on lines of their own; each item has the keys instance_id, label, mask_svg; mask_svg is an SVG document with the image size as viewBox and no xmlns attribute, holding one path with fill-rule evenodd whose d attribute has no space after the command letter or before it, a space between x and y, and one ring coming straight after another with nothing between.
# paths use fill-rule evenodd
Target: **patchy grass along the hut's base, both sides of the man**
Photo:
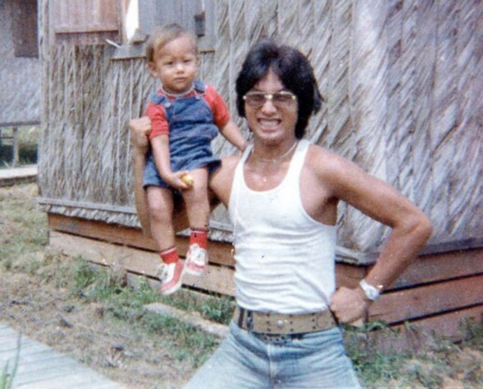
<instances>
[{"instance_id":1,"label":"patchy grass along the hut's base, both sides of the man","mask_svg":"<svg viewBox=\"0 0 483 389\"><path fill-rule=\"evenodd\" d=\"M169 350L172 358L193 366L203 363L218 340L176 318L146 312L144 305L161 301L228 324L233 299L210 297L200 301L186 291L162 297L147 282L130 287L109 268L93 266L81 257L67 261L46 248L47 221L34 204L35 195L33 184L0 188L0 271L29 274L40 277L42 283L65 288L72 299L101 305L103 319L128 323L132 334L149 336ZM348 327L345 332L348 353L364 387L439 388L448 387L448 380L454 380L464 388L483 388L481 322L462 323L465 336L459 343L435 334L431 348L408 352L382 352L369 336L374 330L381 331L388 342L399 336L382 322L369 323L362 329Z\"/></svg>"}]
</instances>

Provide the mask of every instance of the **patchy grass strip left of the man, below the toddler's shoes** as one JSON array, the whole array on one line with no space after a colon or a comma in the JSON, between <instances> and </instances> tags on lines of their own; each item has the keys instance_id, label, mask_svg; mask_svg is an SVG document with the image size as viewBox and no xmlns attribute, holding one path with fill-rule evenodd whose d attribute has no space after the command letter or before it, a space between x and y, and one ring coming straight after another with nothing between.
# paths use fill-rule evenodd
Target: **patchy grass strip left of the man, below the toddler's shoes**
<instances>
[{"instance_id":1,"label":"patchy grass strip left of the man, below the toddler's shoes","mask_svg":"<svg viewBox=\"0 0 483 389\"><path fill-rule=\"evenodd\" d=\"M36 195L33 184L0 188L0 229L5 231L0 236L0 271L39 277L42 283L67 289L72 299L97 302L105 319L128 323L133 334L151 336L173 358L186 359L195 367L213 352L218 344L213 336L178 319L145 312L144 304L162 300L147 282L133 288L109 269L93 266L81 257L68 261L50 251L46 216L37 210ZM212 305L202 309L215 311Z\"/></svg>"}]
</instances>

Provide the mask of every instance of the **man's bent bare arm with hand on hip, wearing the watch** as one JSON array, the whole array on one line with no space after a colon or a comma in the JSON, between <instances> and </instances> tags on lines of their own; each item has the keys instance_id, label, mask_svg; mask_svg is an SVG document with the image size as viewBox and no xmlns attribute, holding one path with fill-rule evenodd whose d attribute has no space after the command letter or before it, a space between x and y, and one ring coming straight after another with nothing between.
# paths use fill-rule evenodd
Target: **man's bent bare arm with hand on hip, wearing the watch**
<instances>
[{"instance_id":1,"label":"man's bent bare arm with hand on hip, wearing the watch","mask_svg":"<svg viewBox=\"0 0 483 389\"><path fill-rule=\"evenodd\" d=\"M318 176L331 194L390 228L392 231L367 283L388 287L416 258L431 234L431 224L406 197L388 183L365 173L353 162L327 150L319 151ZM369 303L361 288L340 288L331 308L343 322L361 317ZM362 309L360 308L362 307Z\"/></svg>"}]
</instances>

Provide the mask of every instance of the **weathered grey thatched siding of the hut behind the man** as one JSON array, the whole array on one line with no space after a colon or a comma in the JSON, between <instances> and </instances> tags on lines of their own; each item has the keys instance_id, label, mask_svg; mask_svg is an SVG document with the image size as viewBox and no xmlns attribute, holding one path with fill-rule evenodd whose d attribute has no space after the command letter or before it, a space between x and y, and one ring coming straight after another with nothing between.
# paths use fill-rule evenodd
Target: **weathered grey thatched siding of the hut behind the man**
<instances>
[{"instance_id":1,"label":"weathered grey thatched siding of the hut behind the man","mask_svg":"<svg viewBox=\"0 0 483 389\"><path fill-rule=\"evenodd\" d=\"M48 31L48 0L40 0ZM308 137L389 181L430 217L430 244L483 242L483 3L479 0L218 0L201 78L235 110L250 44L274 35L310 56L326 100ZM40 186L45 208L135 225L128 120L155 87L142 59L41 38ZM233 148L218 138L221 155ZM226 213L215 222L227 224ZM216 223L215 223L216 225ZM339 245L376 251L389 230L340 206ZM226 236L217 234L215 237Z\"/></svg>"}]
</instances>

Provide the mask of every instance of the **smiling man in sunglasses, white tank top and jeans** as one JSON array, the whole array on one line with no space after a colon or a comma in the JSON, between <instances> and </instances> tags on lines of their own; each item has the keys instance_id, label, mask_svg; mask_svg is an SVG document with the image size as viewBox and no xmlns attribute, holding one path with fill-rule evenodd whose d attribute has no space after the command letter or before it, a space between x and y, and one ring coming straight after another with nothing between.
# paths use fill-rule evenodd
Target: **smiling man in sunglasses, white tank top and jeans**
<instances>
[{"instance_id":1,"label":"smiling man in sunglasses, white tank top and jeans","mask_svg":"<svg viewBox=\"0 0 483 389\"><path fill-rule=\"evenodd\" d=\"M339 322L362 318L415 258L430 223L390 185L303 140L321 97L297 50L272 40L256 44L236 89L253 144L241 157L223 159L209 186L234 225L237 309L230 335L186 388L358 388L333 315ZM131 128L139 179L149 122L135 120ZM135 190L146 225L139 181ZM335 290L339 200L392 228L354 289Z\"/></svg>"}]
</instances>

